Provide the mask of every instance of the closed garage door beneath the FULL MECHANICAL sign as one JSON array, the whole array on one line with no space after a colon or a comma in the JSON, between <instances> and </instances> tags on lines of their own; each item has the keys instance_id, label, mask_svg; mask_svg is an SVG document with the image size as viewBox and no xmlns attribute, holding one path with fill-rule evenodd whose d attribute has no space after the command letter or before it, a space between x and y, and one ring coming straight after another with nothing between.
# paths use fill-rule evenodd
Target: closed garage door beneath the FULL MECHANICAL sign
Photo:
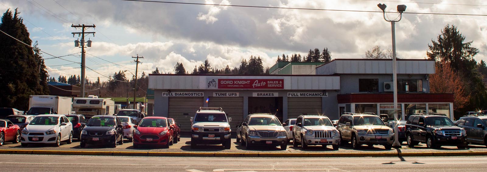
<instances>
[{"instance_id":1,"label":"closed garage door beneath the FULL MECHANICAL sign","mask_svg":"<svg viewBox=\"0 0 487 172\"><path fill-rule=\"evenodd\" d=\"M287 118L321 114L321 97L287 97Z\"/></svg>"}]
</instances>

